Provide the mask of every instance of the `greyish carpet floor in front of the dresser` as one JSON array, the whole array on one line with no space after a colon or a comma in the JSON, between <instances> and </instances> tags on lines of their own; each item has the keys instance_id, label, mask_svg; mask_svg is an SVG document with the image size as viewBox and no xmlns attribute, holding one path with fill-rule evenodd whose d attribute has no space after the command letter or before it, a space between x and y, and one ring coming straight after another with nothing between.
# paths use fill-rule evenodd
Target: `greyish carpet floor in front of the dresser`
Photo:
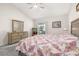
<instances>
[{"instance_id":1,"label":"greyish carpet floor in front of the dresser","mask_svg":"<svg viewBox=\"0 0 79 59\"><path fill-rule=\"evenodd\" d=\"M18 56L16 44L0 47L0 56Z\"/></svg>"}]
</instances>

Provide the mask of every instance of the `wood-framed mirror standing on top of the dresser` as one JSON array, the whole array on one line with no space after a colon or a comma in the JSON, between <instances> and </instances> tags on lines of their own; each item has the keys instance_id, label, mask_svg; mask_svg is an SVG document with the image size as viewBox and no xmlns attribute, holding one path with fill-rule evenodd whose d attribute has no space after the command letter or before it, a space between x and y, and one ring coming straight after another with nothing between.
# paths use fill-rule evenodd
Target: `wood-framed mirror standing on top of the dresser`
<instances>
[{"instance_id":1,"label":"wood-framed mirror standing on top of the dresser","mask_svg":"<svg viewBox=\"0 0 79 59\"><path fill-rule=\"evenodd\" d=\"M24 22L18 20L12 20L12 32L23 32Z\"/></svg>"}]
</instances>

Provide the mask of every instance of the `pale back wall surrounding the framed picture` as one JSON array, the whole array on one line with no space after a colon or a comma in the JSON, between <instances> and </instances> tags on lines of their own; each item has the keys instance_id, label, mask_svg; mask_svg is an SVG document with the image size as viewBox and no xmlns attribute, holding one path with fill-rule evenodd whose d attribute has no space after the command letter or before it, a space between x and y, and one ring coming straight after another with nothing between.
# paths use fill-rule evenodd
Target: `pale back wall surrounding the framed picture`
<instances>
[{"instance_id":1,"label":"pale back wall surrounding the framed picture","mask_svg":"<svg viewBox=\"0 0 79 59\"><path fill-rule=\"evenodd\" d=\"M61 28L52 28L53 21L61 21ZM46 33L58 34L63 32L64 30L68 31L69 29L68 15L45 17L36 20L36 24L40 22L46 23Z\"/></svg>"}]
</instances>

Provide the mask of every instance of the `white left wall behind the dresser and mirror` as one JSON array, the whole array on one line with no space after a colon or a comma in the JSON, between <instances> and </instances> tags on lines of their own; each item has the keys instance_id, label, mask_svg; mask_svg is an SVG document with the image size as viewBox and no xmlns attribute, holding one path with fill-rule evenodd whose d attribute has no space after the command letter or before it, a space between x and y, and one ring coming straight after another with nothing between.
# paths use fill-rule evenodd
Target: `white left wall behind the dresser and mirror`
<instances>
[{"instance_id":1,"label":"white left wall behind the dresser and mirror","mask_svg":"<svg viewBox=\"0 0 79 59\"><path fill-rule=\"evenodd\" d=\"M0 4L0 46L8 43L8 32L12 31L12 21L24 21L24 31L30 32L33 21L11 4ZM29 33L30 35L30 33Z\"/></svg>"}]
</instances>

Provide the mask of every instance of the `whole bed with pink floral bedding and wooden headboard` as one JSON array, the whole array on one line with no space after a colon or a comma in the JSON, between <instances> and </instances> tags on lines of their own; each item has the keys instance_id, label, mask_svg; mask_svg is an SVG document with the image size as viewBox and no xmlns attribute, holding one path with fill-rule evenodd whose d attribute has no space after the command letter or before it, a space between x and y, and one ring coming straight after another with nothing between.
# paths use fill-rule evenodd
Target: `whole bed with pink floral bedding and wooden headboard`
<instances>
[{"instance_id":1,"label":"whole bed with pink floral bedding and wooden headboard","mask_svg":"<svg viewBox=\"0 0 79 59\"><path fill-rule=\"evenodd\" d=\"M76 46L79 37L79 19L71 22L71 34L35 35L21 40L16 50L21 56L79 56Z\"/></svg>"}]
</instances>

